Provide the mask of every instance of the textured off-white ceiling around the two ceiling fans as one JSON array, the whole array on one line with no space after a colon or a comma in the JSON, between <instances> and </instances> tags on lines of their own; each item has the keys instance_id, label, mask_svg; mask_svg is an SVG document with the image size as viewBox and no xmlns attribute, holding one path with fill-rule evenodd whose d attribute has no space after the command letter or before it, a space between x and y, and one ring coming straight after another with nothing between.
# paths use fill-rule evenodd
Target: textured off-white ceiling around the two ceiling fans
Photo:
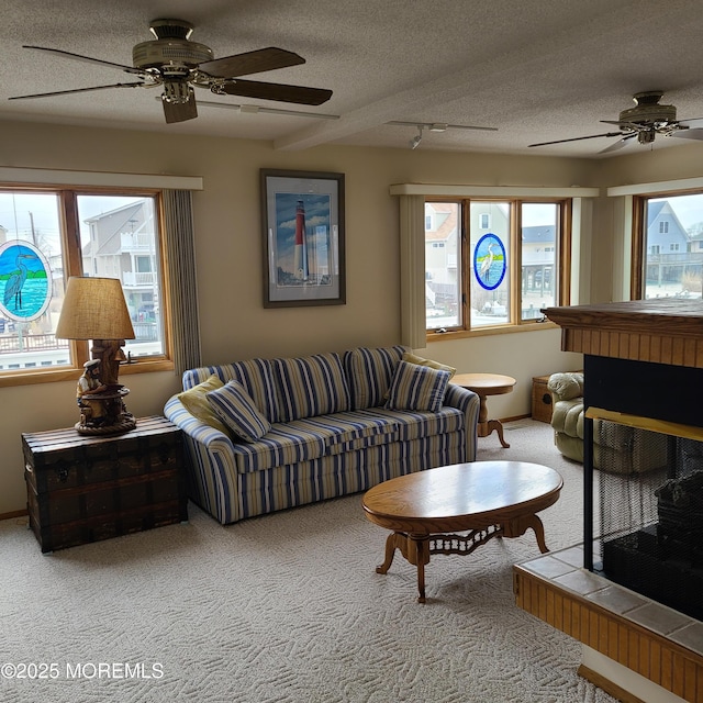
<instances>
[{"instance_id":1,"label":"textured off-white ceiling around the two ceiling fans","mask_svg":"<svg viewBox=\"0 0 703 703\"><path fill-rule=\"evenodd\" d=\"M703 118L703 13L699 0L3 0L0 120L150 130L272 141L410 148L413 126L389 121L496 127L425 130L420 149L601 157L613 140L527 148L613 130L632 96L662 90L679 120ZM198 90L199 116L167 125L158 89L112 89L7 99L133 80L110 67L22 48L32 44L131 65L149 21L191 22L215 57L279 46L302 66L247 78L334 91L319 108ZM256 104L338 115L317 120L210 107ZM703 124L703 123L701 123ZM696 125L701 126L701 125ZM654 148L690 141L657 137ZM629 144L616 154L652 148Z\"/></svg>"}]
</instances>

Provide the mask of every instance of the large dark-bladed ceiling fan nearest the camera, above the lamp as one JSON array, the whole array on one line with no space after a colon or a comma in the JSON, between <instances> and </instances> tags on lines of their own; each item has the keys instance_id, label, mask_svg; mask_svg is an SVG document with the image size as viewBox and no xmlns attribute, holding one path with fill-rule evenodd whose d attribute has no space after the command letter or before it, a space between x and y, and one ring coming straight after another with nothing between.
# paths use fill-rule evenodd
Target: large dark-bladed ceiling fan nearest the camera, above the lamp
<instances>
[{"instance_id":1,"label":"large dark-bladed ceiling fan nearest the camera, above the lamp","mask_svg":"<svg viewBox=\"0 0 703 703\"><path fill-rule=\"evenodd\" d=\"M123 66L57 48L24 45L23 48L48 52L65 58L119 68L126 74L137 76L138 80L92 88L58 90L33 96L15 96L10 100L46 98L107 88L163 87L164 115L167 123L172 123L185 122L198 116L193 86L208 88L219 96L243 96L245 98L277 100L305 105L319 105L332 97L332 90L322 88L268 83L241 80L238 78L239 76L287 68L305 63L302 56L292 52L269 46L268 48L244 54L214 58L209 46L190 41L193 26L189 22L183 20L154 20L149 29L156 38L134 46L132 49L134 66Z\"/></svg>"}]
</instances>

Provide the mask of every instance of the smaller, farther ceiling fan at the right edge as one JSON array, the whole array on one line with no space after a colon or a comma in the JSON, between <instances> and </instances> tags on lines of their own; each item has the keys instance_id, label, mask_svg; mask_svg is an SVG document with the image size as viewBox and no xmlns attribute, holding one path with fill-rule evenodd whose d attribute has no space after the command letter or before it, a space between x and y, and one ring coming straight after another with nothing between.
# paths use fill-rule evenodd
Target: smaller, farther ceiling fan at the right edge
<instances>
[{"instance_id":1,"label":"smaller, farther ceiling fan at the right edge","mask_svg":"<svg viewBox=\"0 0 703 703\"><path fill-rule=\"evenodd\" d=\"M661 105L659 100L663 92L661 90L649 90L637 92L633 97L635 107L623 110L618 120L601 120L605 124L616 124L620 132L606 132L605 134L591 134L589 136L577 136L570 140L557 140L555 142L540 142L529 144L529 146L547 146L548 144L563 144L566 142L578 142L580 140L595 140L598 137L618 136L620 140L605 147L599 154L615 152L627 146L632 140L637 137L639 144L651 144L657 134L662 136L676 136L687 140L703 140L703 129L691 129L690 124L677 120L677 109L673 105ZM696 122L688 120L687 122Z\"/></svg>"}]
</instances>

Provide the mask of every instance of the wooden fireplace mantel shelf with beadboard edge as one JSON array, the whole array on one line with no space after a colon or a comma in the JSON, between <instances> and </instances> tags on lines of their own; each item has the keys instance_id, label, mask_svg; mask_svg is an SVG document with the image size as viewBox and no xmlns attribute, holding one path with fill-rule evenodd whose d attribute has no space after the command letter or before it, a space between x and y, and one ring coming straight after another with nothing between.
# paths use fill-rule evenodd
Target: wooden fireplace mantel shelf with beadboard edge
<instances>
[{"instance_id":1,"label":"wooden fireplace mantel shelf with beadboard edge","mask_svg":"<svg viewBox=\"0 0 703 703\"><path fill-rule=\"evenodd\" d=\"M703 301L678 298L545 308L561 349L703 368Z\"/></svg>"}]
</instances>

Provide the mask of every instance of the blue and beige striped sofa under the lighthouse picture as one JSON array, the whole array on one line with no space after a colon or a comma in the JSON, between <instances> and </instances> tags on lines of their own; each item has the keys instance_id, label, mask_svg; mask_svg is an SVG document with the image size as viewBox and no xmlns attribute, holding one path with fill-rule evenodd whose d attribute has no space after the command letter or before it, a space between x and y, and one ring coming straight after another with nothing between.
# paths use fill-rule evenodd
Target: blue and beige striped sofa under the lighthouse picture
<instances>
[{"instance_id":1,"label":"blue and beige striped sofa under the lighthouse picture","mask_svg":"<svg viewBox=\"0 0 703 703\"><path fill-rule=\"evenodd\" d=\"M475 460L478 397L446 383L446 371L435 371L429 382L424 367L403 361L406 352L356 348L186 371L185 392L213 381L245 389L241 394L256 406L247 423L255 421L260 429L244 433L245 440L189 412L185 393L170 398L165 414L183 431L190 499L230 524L364 491L411 471ZM435 380L443 389L437 399L429 388L436 406L415 410Z\"/></svg>"}]
</instances>

